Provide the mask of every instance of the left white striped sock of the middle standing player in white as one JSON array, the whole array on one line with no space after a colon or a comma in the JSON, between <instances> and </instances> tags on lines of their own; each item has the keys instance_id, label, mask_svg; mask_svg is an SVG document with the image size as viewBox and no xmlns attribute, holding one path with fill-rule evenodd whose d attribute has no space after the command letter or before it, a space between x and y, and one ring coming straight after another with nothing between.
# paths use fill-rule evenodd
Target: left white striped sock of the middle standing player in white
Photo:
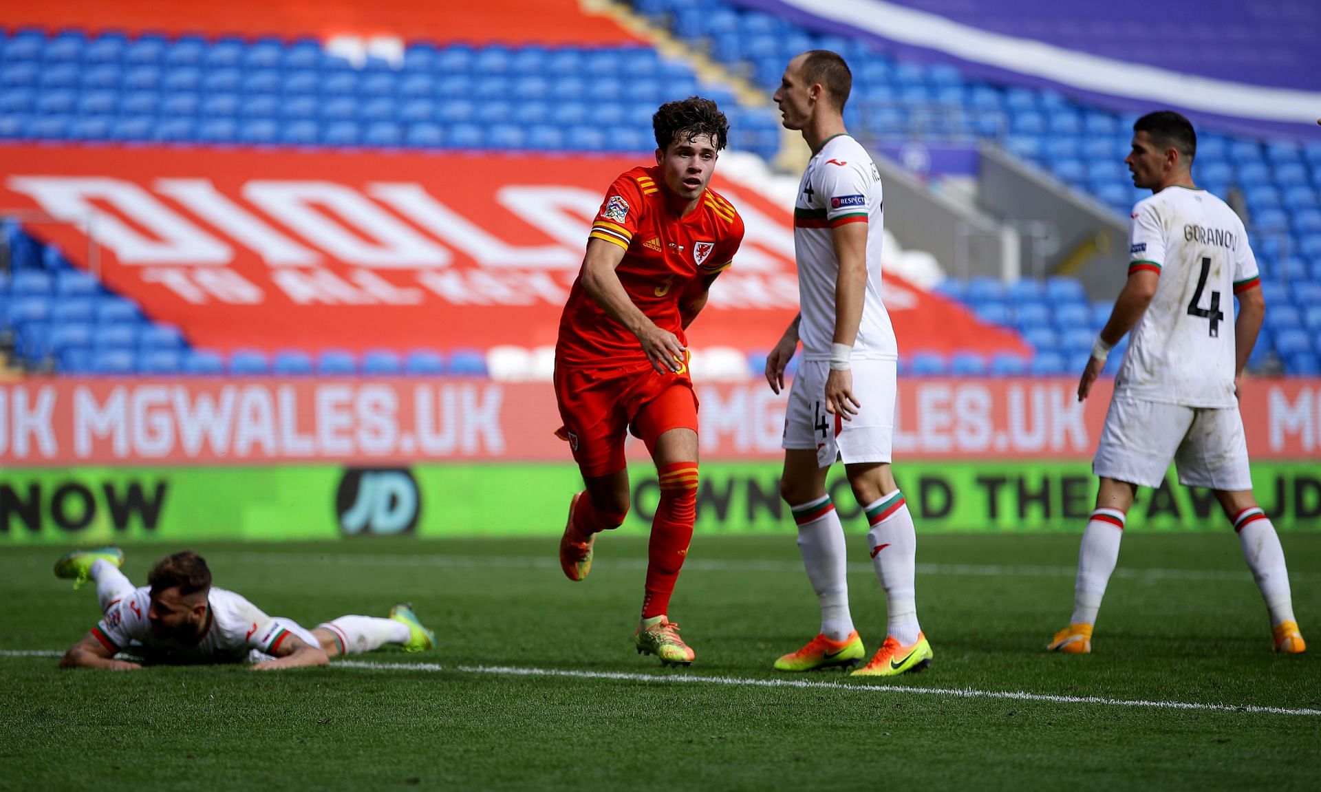
<instances>
[{"instance_id":1,"label":"left white striped sock of the middle standing player in white","mask_svg":"<svg viewBox=\"0 0 1321 792\"><path fill-rule=\"evenodd\" d=\"M841 641L853 632L853 617L848 612L844 526L839 512L828 495L789 510L798 524L798 551L807 579L822 606L822 635Z\"/></svg>"}]
</instances>

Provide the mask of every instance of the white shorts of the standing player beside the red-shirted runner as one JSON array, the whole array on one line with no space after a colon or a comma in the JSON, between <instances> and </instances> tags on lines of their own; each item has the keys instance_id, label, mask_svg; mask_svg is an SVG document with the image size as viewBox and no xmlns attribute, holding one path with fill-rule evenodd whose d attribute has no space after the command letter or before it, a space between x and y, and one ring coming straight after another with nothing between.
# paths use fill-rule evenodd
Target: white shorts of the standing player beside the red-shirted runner
<instances>
[{"instance_id":1,"label":"white shorts of the standing player beside the red-shirted runner","mask_svg":"<svg viewBox=\"0 0 1321 792\"><path fill-rule=\"evenodd\" d=\"M853 360L853 395L861 405L852 420L826 411L830 361L803 361L789 389L781 448L815 450L816 463L830 467L890 461L894 440L896 365L892 360Z\"/></svg>"}]
</instances>

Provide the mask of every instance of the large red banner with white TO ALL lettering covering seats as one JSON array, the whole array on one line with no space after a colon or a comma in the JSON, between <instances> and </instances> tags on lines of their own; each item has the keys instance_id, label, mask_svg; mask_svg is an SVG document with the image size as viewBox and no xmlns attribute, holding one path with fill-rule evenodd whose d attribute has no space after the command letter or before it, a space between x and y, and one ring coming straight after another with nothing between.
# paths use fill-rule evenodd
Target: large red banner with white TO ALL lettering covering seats
<instances>
[{"instance_id":1,"label":"large red banner with white TO ALL lettering covering seats","mask_svg":"<svg viewBox=\"0 0 1321 792\"><path fill-rule=\"evenodd\" d=\"M0 212L96 268L155 320L221 352L555 342L604 190L650 159L0 147ZM791 216L719 175L746 225L696 348L768 349L798 308ZM901 349L1028 352L886 275Z\"/></svg>"}]
</instances>

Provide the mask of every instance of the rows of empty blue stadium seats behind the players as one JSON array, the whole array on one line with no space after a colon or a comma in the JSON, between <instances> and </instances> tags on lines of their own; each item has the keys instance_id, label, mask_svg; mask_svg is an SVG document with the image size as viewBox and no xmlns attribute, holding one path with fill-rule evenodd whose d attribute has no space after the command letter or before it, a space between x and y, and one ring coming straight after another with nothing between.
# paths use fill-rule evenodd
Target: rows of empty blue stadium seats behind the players
<instances>
[{"instance_id":1,"label":"rows of empty blue stadium seats behind the players","mask_svg":"<svg viewBox=\"0 0 1321 792\"><path fill-rule=\"evenodd\" d=\"M863 138L993 140L1116 213L1127 213L1141 197L1122 165L1128 116L1050 90L1004 87L967 78L948 65L909 62L873 42L812 34L757 11L697 0L633 5L729 70L749 75L768 94L793 54L811 48L841 52L855 71L856 98L847 120ZM353 62L320 40L295 37L313 32L309 28L280 29L275 22L266 28L280 37L231 29L243 34L9 28L0 40L0 141L534 152L572 145L588 153L641 152L653 145L655 106L700 91L729 112L733 149L768 160L779 149L773 108L740 103L729 87L699 82L687 62L622 34L552 46L413 40L394 61L369 53ZM482 100L472 102L466 91ZM1321 147L1206 132L1194 175L1242 205L1255 239L1272 309L1251 365L1314 373L1321 353L1321 316L1313 311L1321 290ZM186 327L149 321L137 304L110 294L57 246L17 222L7 221L3 237L8 275L0 278L0 328L28 370L490 373L486 354L470 349L235 350L225 357L190 349ZM1081 284L1066 278L1009 286L946 282L938 292L982 321L1020 333L1032 357L914 352L905 361L908 372L1073 372L1108 312L1106 304L1089 304ZM1119 360L1111 356L1111 368ZM756 361L750 365L756 370Z\"/></svg>"}]
</instances>

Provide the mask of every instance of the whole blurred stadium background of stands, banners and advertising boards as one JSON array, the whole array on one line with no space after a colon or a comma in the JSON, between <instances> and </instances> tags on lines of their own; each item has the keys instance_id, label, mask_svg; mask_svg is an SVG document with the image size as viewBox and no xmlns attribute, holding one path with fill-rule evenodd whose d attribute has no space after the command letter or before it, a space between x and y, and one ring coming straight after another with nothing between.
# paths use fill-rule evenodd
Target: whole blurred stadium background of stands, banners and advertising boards
<instances>
[{"instance_id":1,"label":"whole blurred stadium background of stands, banners and advertising boards","mask_svg":"<svg viewBox=\"0 0 1321 792\"><path fill-rule=\"evenodd\" d=\"M845 119L882 168L923 530L1081 528L1108 390L1079 406L1075 376L1125 272L1131 124L1157 107L1193 118L1194 177L1258 253L1259 497L1280 528L1321 520L1313 4L452 5L7 4L0 545L557 534L559 311L601 190L691 94L731 119L716 178L748 225L692 332L699 532L791 532L760 372L797 304L807 152L770 94L812 48L852 66ZM1221 518L1174 487L1129 525Z\"/></svg>"}]
</instances>

